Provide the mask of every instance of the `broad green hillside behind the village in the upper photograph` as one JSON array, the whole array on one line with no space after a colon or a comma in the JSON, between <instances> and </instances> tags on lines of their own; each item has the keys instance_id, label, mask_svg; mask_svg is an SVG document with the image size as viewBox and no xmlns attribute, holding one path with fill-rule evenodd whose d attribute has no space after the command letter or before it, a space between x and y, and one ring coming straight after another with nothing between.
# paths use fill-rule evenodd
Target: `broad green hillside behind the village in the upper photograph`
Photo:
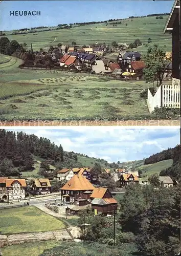
<instances>
[{"instance_id":1,"label":"broad green hillside behind the village in the upper photograph","mask_svg":"<svg viewBox=\"0 0 181 256\"><path fill-rule=\"evenodd\" d=\"M168 16L164 15L163 19L156 19L156 16L127 18L124 20L116 20L115 22L99 23L93 25L83 25L72 27L70 29L58 29L50 31L40 31L35 33L6 35L10 40L17 40L19 44L27 44L30 49L31 43L33 50L43 48L48 50L50 45L57 44L71 45L72 41L76 41L77 45L89 45L95 42L111 44L117 41L120 44L130 44L139 38L143 43L148 42L148 38L152 39L149 44L159 44L167 52L171 51L171 36L163 34L163 29ZM146 53L145 46L139 47L138 51Z\"/></svg>"}]
</instances>

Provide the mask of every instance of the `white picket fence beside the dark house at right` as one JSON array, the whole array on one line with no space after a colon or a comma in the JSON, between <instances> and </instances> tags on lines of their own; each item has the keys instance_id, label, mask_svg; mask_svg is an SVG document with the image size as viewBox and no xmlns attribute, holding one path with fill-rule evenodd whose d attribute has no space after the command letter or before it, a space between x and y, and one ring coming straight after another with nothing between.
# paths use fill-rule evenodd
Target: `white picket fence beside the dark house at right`
<instances>
[{"instance_id":1,"label":"white picket fence beside the dark house at right","mask_svg":"<svg viewBox=\"0 0 181 256\"><path fill-rule=\"evenodd\" d=\"M150 113L154 111L157 106L166 106L168 108L180 108L180 86L179 85L165 85L162 84L154 96L152 96L148 89L147 104Z\"/></svg>"}]
</instances>

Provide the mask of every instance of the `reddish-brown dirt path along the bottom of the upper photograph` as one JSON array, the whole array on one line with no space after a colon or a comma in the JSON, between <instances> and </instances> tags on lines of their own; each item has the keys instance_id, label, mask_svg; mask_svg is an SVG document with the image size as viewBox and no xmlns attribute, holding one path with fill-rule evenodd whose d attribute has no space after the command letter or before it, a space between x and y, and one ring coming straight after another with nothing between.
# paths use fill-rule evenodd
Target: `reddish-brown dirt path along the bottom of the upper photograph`
<instances>
[{"instance_id":1,"label":"reddish-brown dirt path along the bottom of the upper photograph","mask_svg":"<svg viewBox=\"0 0 181 256\"><path fill-rule=\"evenodd\" d=\"M0 121L0 126L180 126L180 120Z\"/></svg>"}]
</instances>

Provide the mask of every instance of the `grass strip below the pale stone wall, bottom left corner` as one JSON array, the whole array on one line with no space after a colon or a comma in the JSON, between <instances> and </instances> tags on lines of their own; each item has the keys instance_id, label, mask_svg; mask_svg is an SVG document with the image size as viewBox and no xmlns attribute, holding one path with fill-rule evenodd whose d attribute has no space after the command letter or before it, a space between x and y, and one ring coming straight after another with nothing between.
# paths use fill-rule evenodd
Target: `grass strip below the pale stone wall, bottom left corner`
<instances>
[{"instance_id":1,"label":"grass strip below the pale stone wall, bottom left corner","mask_svg":"<svg viewBox=\"0 0 181 256\"><path fill-rule=\"evenodd\" d=\"M26 256L38 256L44 250L51 249L55 246L59 246L60 242L56 240L25 243L9 245L1 248L3 255L14 256L14 255L26 255Z\"/></svg>"}]
</instances>

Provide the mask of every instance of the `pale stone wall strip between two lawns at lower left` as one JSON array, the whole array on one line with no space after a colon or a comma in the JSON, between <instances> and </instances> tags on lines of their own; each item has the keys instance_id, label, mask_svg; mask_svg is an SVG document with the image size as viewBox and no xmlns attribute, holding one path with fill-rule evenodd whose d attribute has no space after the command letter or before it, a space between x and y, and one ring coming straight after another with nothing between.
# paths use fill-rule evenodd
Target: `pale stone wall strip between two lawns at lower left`
<instances>
[{"instance_id":1,"label":"pale stone wall strip between two lawns at lower left","mask_svg":"<svg viewBox=\"0 0 181 256\"><path fill-rule=\"evenodd\" d=\"M47 232L17 233L9 235L0 234L0 247L12 244L23 244L46 240L72 241L72 238L66 229Z\"/></svg>"}]
</instances>

